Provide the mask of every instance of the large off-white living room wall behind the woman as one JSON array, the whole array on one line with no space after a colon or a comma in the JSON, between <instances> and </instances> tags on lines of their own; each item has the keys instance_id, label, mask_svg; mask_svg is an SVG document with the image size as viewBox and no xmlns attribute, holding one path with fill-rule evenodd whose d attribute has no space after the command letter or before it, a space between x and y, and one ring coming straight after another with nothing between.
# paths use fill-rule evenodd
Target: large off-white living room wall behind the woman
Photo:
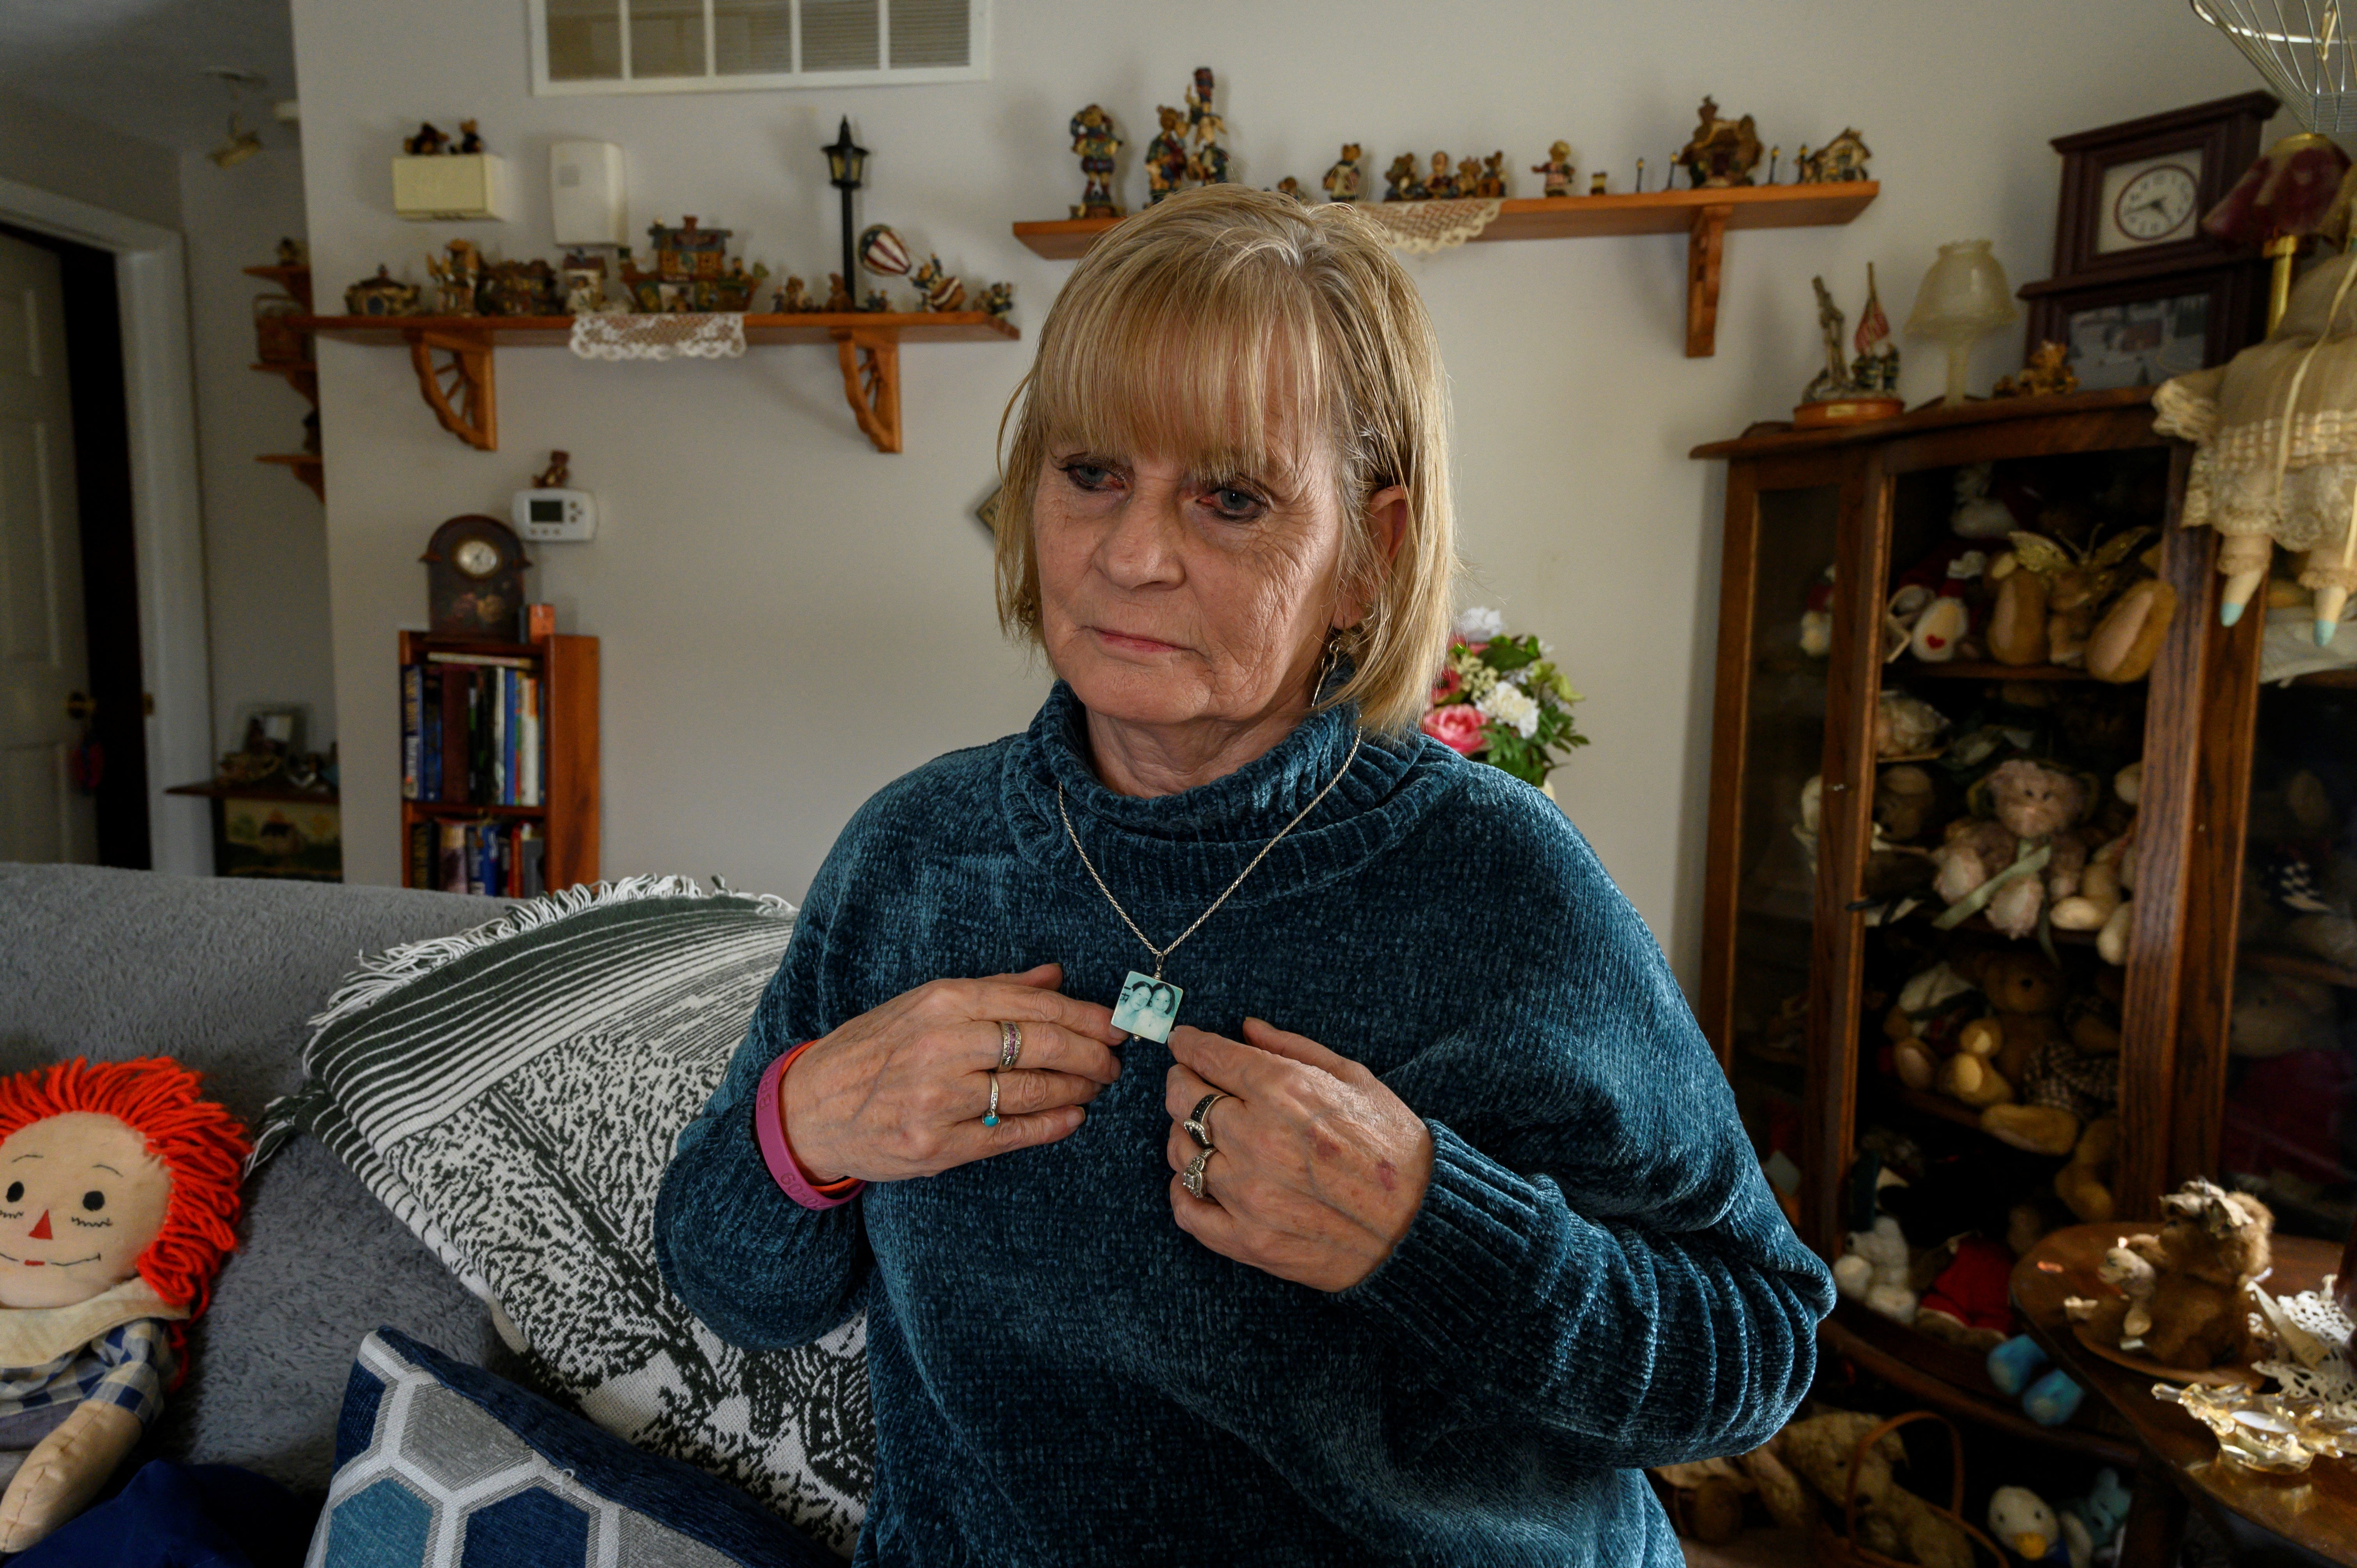
<instances>
[{"instance_id":1,"label":"large off-white living room wall behind the woman","mask_svg":"<svg viewBox=\"0 0 2357 1568\"><path fill-rule=\"evenodd\" d=\"M455 226L394 219L387 158L420 118L476 116L519 174L519 219L467 226L507 255L549 250L547 144L627 149L632 226L695 212L804 276L837 255L816 146L839 113L874 158L863 222L891 222L969 278L1018 283L1035 325L1068 274L1006 224L1080 193L1065 118L1105 104L1136 151L1157 101L1211 64L1237 177L1315 184L1341 141L1372 170L1400 149L1567 137L1626 189L1714 92L1765 139L1857 125L1883 198L1848 229L1737 233L1718 356L1683 356L1683 238L1473 245L1409 262L1457 389L1471 601L1551 639L1589 693L1596 745L1556 776L1678 960L1692 969L1721 474L1685 450L1780 417L1817 361L1808 278L1853 311L1876 262L1904 318L1940 241L1989 236L2041 278L2060 160L2048 137L2256 87L2166 0L1721 0L1629 7L1525 0L1461 17L1374 0L1108 7L999 0L992 80L948 87L530 99L523 0L295 0L311 243L323 290L377 262L422 278ZM2133 68L2131 68L2133 66ZM1518 193L1537 193L1523 174ZM1980 358L1987 384L2018 337ZM441 434L403 358L323 344L328 549L346 865L394 879L394 630L424 613L417 552L445 516L504 509L547 448L573 453L606 533L540 547L537 594L603 637L606 872L721 872L799 894L846 813L945 747L1018 729L1044 674L1002 646L988 552L966 507L1025 347L903 354L907 455L851 427L825 349L740 363L603 365L504 351L495 455ZM1916 349L1904 391L1933 396Z\"/></svg>"}]
</instances>

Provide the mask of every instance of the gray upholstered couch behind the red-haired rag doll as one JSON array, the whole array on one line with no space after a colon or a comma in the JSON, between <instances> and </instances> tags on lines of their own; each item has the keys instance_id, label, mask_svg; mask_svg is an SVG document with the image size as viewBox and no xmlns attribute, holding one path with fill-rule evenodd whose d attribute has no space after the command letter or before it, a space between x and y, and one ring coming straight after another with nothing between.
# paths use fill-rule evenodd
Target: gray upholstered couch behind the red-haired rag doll
<instances>
[{"instance_id":1,"label":"gray upholstered couch behind the red-haired rag doll","mask_svg":"<svg viewBox=\"0 0 2357 1568\"><path fill-rule=\"evenodd\" d=\"M464 931L495 898L0 863L0 1073L174 1056L259 1125L302 1082L306 1019L354 960ZM500 1368L490 1313L311 1139L245 1191L240 1250L146 1452L328 1485L361 1337L389 1323Z\"/></svg>"}]
</instances>

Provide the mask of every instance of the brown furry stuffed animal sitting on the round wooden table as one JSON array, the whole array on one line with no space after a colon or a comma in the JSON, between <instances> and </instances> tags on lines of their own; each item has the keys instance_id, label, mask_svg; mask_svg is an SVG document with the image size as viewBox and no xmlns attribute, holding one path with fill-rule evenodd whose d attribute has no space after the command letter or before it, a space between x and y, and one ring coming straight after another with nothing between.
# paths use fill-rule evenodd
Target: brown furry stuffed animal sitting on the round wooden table
<instances>
[{"instance_id":1,"label":"brown furry stuffed animal sitting on the round wooden table","mask_svg":"<svg viewBox=\"0 0 2357 1568\"><path fill-rule=\"evenodd\" d=\"M2166 1368L2213 1368L2251 1351L2244 1287L2267 1269L2275 1214L2249 1193L2192 1179L2161 1198L2159 1233L2128 1236L2098 1276L2112 1297L2069 1297L2062 1311L2102 1344Z\"/></svg>"}]
</instances>

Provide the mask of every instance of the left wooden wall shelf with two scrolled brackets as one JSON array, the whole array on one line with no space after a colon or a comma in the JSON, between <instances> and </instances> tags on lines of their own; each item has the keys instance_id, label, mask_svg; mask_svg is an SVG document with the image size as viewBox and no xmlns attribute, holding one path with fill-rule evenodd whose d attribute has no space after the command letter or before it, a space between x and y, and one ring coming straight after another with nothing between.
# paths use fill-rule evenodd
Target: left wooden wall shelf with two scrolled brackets
<instances>
[{"instance_id":1,"label":"left wooden wall shelf with two scrolled brackets","mask_svg":"<svg viewBox=\"0 0 2357 1568\"><path fill-rule=\"evenodd\" d=\"M306 316L304 330L342 342L405 347L417 391L453 436L476 450L500 448L493 354L511 347L561 347L570 316ZM804 311L745 316L745 342L832 342L844 370L851 417L879 453L900 450L903 342L1011 342L1023 337L985 311Z\"/></svg>"}]
</instances>

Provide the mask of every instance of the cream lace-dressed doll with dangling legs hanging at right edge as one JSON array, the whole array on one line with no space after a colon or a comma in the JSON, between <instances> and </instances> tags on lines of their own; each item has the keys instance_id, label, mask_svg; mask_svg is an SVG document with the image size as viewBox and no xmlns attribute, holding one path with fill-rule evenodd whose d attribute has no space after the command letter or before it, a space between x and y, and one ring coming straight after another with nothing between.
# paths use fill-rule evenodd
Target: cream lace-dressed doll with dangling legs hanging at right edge
<instances>
[{"instance_id":1,"label":"cream lace-dressed doll with dangling legs hanging at right edge","mask_svg":"<svg viewBox=\"0 0 2357 1568\"><path fill-rule=\"evenodd\" d=\"M2350 184L2341 189L2345 212ZM2345 219L2343 219L2345 222ZM2154 429L2194 450L2185 526L2218 531L2218 613L2242 620L2277 545L2300 552L2315 639L2333 639L2357 589L2357 255L2310 269L2265 342L2230 365L2164 382Z\"/></svg>"}]
</instances>

